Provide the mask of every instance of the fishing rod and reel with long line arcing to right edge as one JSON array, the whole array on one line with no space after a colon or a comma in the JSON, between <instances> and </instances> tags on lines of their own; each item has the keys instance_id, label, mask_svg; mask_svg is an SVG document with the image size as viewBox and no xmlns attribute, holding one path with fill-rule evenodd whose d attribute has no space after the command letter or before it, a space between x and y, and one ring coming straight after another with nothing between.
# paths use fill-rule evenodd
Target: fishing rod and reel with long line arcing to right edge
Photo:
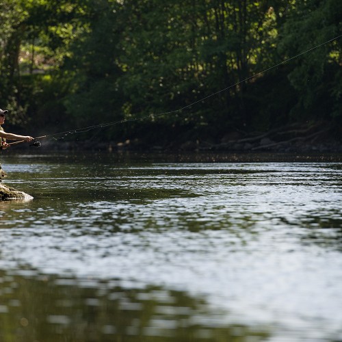
<instances>
[{"instance_id":1,"label":"fishing rod and reel with long line arcing to right edge","mask_svg":"<svg viewBox=\"0 0 342 342\"><path fill-rule=\"evenodd\" d=\"M73 130L70 130L70 131L64 131L64 132L60 132L60 133L52 133L52 134L48 134L48 135L42 135L40 137L35 137L34 138L34 142L30 145L30 146L35 146L35 147L40 147L41 144L40 142L38 141L38 139L42 139L42 138L45 138L45 137L55 137L57 135L70 135L70 134L78 134L78 133L86 133L88 131L91 131L92 129L96 129L96 128L104 128L104 127L109 127L109 126L112 126L114 124L122 124L122 123L125 123L125 122L132 122L132 121L137 121L137 120L144 120L146 118L155 118L155 117L158 117L158 116L165 116L165 115L168 115L168 114L173 114L173 113L177 113L179 111L182 111L184 109L187 109L189 107L192 107L193 105L196 105L197 103L200 103L202 101L205 101L207 100L207 98L210 98L212 96L215 96L217 94L220 94L221 92L225 92L226 90L230 89L230 88L233 88L235 86L238 86L240 83L243 83L243 82L246 82L246 81L249 81L250 79L253 79L254 77L257 77L263 73L267 73L267 71L269 70L272 70L274 68L277 68L278 66L282 65L282 64L285 64L291 60L295 60L296 58L308 53L308 52L311 52L315 49L318 49L319 47L322 47L323 45L325 44L328 44L329 42L332 42L333 40L337 40L339 38L342 37L342 34L340 34L339 36L336 36L330 40L326 40L326 42L323 42L321 44L318 44L316 45L315 47L312 47L306 51L303 51L301 53L298 53L298 55L294 55L292 57L289 57L287 60L284 60L274 66L271 66L270 68L266 68L262 71L260 71L259 73L256 73L250 77L246 77L246 79L242 79L241 81L238 81L237 83L234 83L234 84L231 84L231 86L228 86L222 90L219 90L218 92L214 92L213 94L210 94L208 96L205 96L203 98L200 98L200 100L198 101L195 101L193 103L190 103L189 105L186 105L184 107L181 107L179 109L174 109L172 111L164 111L162 113L159 113L159 114L148 114L146 116L141 116L140 118L131 118L131 119L122 119L122 120L116 120L116 121L112 121L112 122L105 122L103 124L95 124L93 126L88 126L88 127L83 127L83 128L80 128L80 129L73 129ZM56 139L57 140L57 139ZM11 142L10 144L8 145L14 145L14 144L21 144L22 142L25 142L25 140L20 140L18 142Z\"/></svg>"}]
</instances>

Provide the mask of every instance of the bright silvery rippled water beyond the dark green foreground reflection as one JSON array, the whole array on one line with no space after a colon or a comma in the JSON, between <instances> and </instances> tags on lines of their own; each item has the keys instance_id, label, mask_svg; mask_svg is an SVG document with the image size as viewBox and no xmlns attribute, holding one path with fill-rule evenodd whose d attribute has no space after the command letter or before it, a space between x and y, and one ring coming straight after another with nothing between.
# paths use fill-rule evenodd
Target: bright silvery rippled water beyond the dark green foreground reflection
<instances>
[{"instance_id":1,"label":"bright silvery rippled water beyond the dark green foreground reflection","mask_svg":"<svg viewBox=\"0 0 342 342\"><path fill-rule=\"evenodd\" d=\"M169 291L183 291L205 298L209 315L185 313L204 330L240 324L266 329L269 341L342 338L341 164L33 160L31 168L36 174L6 167L14 174L8 183L29 180L25 192L35 199L0 204L8 228L1 269L60 275L59 286L65 275L75 287L115 279L140 300L148 286L168 301ZM93 297L86 305L99 305ZM120 310L142 311L137 298ZM157 311L182 307L189 311L184 303ZM149 324L148 333L173 336L180 323L161 315ZM103 331L114 335L117 327Z\"/></svg>"}]
</instances>

